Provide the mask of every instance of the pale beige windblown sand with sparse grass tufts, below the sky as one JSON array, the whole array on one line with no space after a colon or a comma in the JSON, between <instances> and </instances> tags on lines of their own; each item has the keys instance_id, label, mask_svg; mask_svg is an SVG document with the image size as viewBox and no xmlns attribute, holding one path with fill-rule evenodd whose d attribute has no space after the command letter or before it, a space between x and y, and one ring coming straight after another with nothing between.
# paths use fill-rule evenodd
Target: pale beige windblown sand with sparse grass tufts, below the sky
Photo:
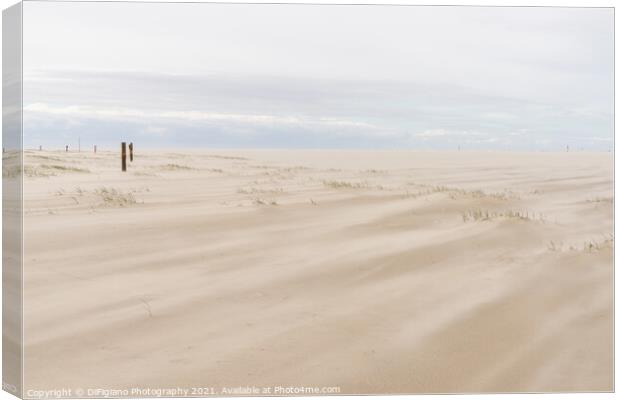
<instances>
[{"instance_id":1,"label":"pale beige windblown sand with sparse grass tufts, below the sky","mask_svg":"<svg viewBox=\"0 0 620 400\"><path fill-rule=\"evenodd\" d=\"M612 158L29 151L25 387L610 391Z\"/></svg>"}]
</instances>

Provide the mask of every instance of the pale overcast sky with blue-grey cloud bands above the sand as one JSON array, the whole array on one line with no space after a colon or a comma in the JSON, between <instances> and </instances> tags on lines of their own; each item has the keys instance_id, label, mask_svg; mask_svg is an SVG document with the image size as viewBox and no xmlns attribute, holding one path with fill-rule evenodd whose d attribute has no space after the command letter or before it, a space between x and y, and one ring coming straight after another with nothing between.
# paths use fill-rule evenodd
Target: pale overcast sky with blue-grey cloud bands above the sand
<instances>
[{"instance_id":1,"label":"pale overcast sky with blue-grey cloud bands above the sand","mask_svg":"<svg viewBox=\"0 0 620 400\"><path fill-rule=\"evenodd\" d=\"M24 5L24 145L607 151L605 8Z\"/></svg>"}]
</instances>

